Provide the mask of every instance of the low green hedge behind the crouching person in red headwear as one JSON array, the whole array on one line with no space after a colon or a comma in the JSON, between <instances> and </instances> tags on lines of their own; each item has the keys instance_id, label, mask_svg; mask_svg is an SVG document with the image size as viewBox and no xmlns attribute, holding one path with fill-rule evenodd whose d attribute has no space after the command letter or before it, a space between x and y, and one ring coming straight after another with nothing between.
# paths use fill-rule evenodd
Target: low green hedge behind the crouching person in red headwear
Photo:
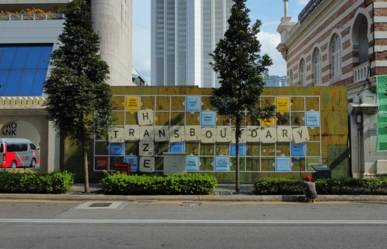
<instances>
[{"instance_id":1,"label":"low green hedge behind the crouching person in red headwear","mask_svg":"<svg viewBox=\"0 0 387 249\"><path fill-rule=\"evenodd\" d=\"M387 178L317 178L317 194L387 194ZM303 194L303 178L261 178L254 192L263 194Z\"/></svg>"}]
</instances>

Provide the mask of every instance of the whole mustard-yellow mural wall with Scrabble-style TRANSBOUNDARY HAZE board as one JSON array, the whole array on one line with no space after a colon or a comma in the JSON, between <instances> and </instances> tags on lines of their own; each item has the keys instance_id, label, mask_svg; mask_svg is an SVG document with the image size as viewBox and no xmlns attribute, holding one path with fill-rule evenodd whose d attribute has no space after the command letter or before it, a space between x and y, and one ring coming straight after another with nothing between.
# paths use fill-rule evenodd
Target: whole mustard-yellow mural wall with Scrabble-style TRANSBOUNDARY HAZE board
<instances>
[{"instance_id":1,"label":"whole mustard-yellow mural wall with Scrabble-style TRANSBOUNDARY HAZE board","mask_svg":"<svg viewBox=\"0 0 387 249\"><path fill-rule=\"evenodd\" d=\"M108 138L95 138L90 149L91 176L130 162L132 172L163 172L164 152L187 156L187 172L214 172L234 181L236 149L233 122L209 103L211 89L196 86L113 86L119 118ZM299 177L313 164L325 164L332 176L348 176L345 87L272 87L263 105L276 104L276 116L263 129L245 121L240 138L240 178ZM248 116L248 113L246 113ZM334 121L334 122L333 122ZM74 154L66 142L65 157ZM64 166L66 169L67 163Z\"/></svg>"}]
</instances>

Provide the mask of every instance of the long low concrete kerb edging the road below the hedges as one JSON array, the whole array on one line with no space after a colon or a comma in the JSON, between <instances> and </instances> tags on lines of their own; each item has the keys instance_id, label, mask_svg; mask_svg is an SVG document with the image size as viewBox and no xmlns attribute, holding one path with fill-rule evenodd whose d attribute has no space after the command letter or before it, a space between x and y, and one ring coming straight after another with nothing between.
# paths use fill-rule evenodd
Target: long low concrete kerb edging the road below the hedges
<instances>
[{"instance_id":1,"label":"long low concrete kerb edging the road below the hedges","mask_svg":"<svg viewBox=\"0 0 387 249\"><path fill-rule=\"evenodd\" d=\"M36 200L36 201L230 201L230 202L302 202L304 196L270 195L156 195L156 196L122 196L104 194L0 194L0 200ZM387 196L367 195L320 195L318 202L352 201L352 202L387 202Z\"/></svg>"}]
</instances>

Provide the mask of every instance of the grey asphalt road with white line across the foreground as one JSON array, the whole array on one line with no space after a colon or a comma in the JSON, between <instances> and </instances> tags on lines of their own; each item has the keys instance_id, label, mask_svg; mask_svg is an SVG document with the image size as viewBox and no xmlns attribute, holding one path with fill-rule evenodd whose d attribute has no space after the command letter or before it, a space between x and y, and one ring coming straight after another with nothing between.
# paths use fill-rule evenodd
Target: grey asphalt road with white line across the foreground
<instances>
[{"instance_id":1,"label":"grey asphalt road with white line across the foreground","mask_svg":"<svg viewBox=\"0 0 387 249\"><path fill-rule=\"evenodd\" d=\"M0 248L386 248L387 203L0 200Z\"/></svg>"}]
</instances>

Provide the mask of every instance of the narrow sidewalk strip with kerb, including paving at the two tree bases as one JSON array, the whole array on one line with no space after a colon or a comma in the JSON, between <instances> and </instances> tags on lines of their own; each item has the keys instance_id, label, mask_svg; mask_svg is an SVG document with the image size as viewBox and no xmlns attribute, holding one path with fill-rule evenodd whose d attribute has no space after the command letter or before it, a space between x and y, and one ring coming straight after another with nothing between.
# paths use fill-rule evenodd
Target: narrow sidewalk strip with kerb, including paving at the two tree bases
<instances>
[{"instance_id":1,"label":"narrow sidewalk strip with kerb, including paving at the two tree bases","mask_svg":"<svg viewBox=\"0 0 387 249\"><path fill-rule=\"evenodd\" d=\"M84 184L75 183L66 194L0 194L1 199L39 200L39 201L258 201L301 203L304 196L262 195L253 193L254 185L241 184L240 194L234 194L234 184L218 184L213 195L155 195L123 196L104 195L102 183L90 183L90 194L84 194ZM319 195L319 202L387 202L387 196L370 195Z\"/></svg>"}]
</instances>

